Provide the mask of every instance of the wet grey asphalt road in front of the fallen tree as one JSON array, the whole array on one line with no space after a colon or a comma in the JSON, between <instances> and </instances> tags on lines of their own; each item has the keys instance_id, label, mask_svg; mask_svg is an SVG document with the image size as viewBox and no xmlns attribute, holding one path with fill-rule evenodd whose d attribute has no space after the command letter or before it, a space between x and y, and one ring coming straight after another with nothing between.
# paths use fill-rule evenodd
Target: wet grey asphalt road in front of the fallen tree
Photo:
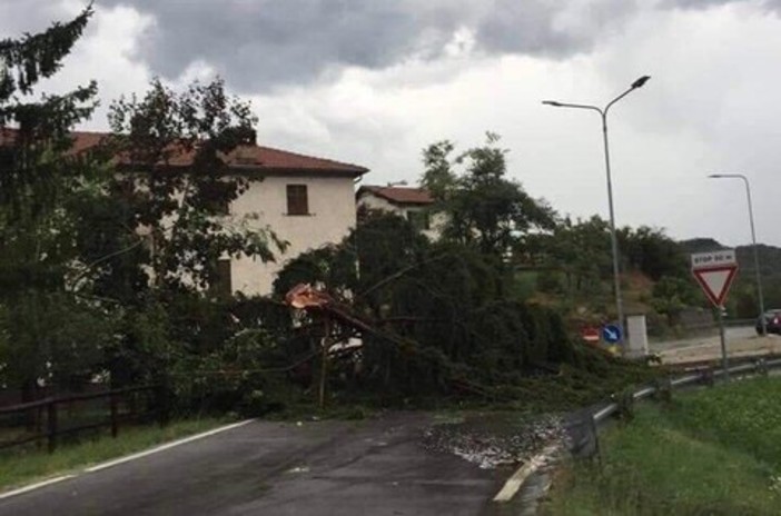
<instances>
[{"instance_id":1,"label":"wet grey asphalt road in front of the fallen tree","mask_svg":"<svg viewBox=\"0 0 781 516\"><path fill-rule=\"evenodd\" d=\"M425 414L253 421L0 500L0 515L488 515L506 472L425 449ZM504 509L502 513L506 514Z\"/></svg>"}]
</instances>

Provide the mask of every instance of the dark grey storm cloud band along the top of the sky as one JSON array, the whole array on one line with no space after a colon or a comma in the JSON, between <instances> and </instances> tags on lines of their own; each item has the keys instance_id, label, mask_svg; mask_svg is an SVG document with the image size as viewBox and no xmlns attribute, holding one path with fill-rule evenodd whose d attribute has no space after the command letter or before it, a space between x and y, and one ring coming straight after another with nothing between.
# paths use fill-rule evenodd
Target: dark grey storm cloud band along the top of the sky
<instances>
[{"instance_id":1,"label":"dark grey storm cloud band along the top of the sky","mask_svg":"<svg viewBox=\"0 0 781 516\"><path fill-rule=\"evenodd\" d=\"M570 2L544 0L103 0L152 14L141 56L172 78L191 62L215 67L243 90L306 83L332 67L378 69L436 58L459 28L488 52L569 56L593 37L555 27ZM593 9L610 18L626 0Z\"/></svg>"}]
</instances>

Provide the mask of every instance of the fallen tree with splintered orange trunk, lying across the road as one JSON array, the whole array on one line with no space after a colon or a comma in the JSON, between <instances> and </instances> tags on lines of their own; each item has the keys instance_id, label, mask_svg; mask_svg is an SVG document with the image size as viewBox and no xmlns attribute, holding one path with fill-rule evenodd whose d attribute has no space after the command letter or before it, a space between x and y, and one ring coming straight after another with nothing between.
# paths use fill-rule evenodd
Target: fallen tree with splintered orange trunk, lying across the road
<instances>
[{"instance_id":1,"label":"fallen tree with splintered orange trunk, lying across the road","mask_svg":"<svg viewBox=\"0 0 781 516\"><path fill-rule=\"evenodd\" d=\"M305 312L296 318L317 350L320 401L327 369L336 391L390 404L506 403L541 378L575 378L589 390L584 375L595 384L611 369L645 375L573 343L556 312L513 298L504 270L493 256L429 242L406 220L372 212L340 245L289 262L275 288ZM349 339L360 345L344 346Z\"/></svg>"}]
</instances>

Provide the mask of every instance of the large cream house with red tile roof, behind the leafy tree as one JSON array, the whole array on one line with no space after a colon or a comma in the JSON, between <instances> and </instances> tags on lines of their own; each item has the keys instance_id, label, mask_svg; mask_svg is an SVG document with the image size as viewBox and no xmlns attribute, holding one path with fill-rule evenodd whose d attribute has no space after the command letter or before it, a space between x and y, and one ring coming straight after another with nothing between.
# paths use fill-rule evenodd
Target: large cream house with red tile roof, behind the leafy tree
<instances>
[{"instance_id":1,"label":"large cream house with red tile roof, behind the leafy tree","mask_svg":"<svg viewBox=\"0 0 781 516\"><path fill-rule=\"evenodd\" d=\"M72 133L73 152L100 143L101 132ZM0 133L0 145L13 137L12 130ZM187 167L192 156L180 152L168 166ZM289 245L276 261L253 258L226 258L218 264L220 289L245 295L271 292L277 272L285 262L309 249L339 242L356 224L355 182L368 169L357 165L305 156L261 146L241 146L225 157L228 173L243 175L249 187L230 206L226 216L256 215L248 224L270 227ZM120 169L134 163L118 157Z\"/></svg>"}]
</instances>

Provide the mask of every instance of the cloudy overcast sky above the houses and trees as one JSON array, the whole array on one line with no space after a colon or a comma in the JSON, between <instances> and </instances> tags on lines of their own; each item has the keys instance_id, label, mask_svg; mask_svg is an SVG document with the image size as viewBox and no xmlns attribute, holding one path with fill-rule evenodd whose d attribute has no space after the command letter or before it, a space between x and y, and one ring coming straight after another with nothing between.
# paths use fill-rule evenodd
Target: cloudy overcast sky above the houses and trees
<instances>
[{"instance_id":1,"label":"cloudy overcast sky above the houses and trees","mask_svg":"<svg viewBox=\"0 0 781 516\"><path fill-rule=\"evenodd\" d=\"M0 0L0 38L83 0ZM259 143L355 162L365 183L422 172L421 150L502 135L510 173L561 214L606 218L599 115L610 115L616 222L674 238L781 245L779 0L97 0L45 89L96 79L103 106L224 77L251 100ZM86 127L106 129L105 110Z\"/></svg>"}]
</instances>

